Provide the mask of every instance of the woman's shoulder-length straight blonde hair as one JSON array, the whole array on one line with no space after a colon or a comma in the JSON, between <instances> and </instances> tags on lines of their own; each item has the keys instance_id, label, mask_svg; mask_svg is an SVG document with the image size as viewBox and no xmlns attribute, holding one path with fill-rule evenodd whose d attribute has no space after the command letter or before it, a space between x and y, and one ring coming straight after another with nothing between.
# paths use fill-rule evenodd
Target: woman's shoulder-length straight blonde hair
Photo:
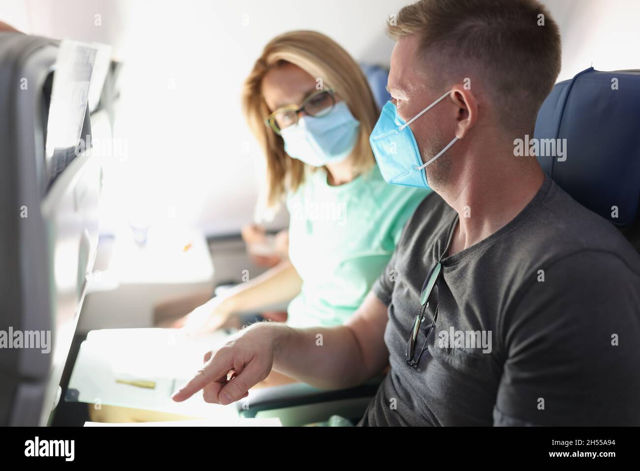
<instances>
[{"instance_id":1,"label":"woman's shoulder-length straight blonde hair","mask_svg":"<svg viewBox=\"0 0 640 471\"><path fill-rule=\"evenodd\" d=\"M375 162L369 134L378 120L378 107L358 64L335 41L316 31L291 31L276 36L264 47L252 72L244 81L243 111L249 127L266 156L265 205L277 209L289 191L305 180L305 166L284 151L284 141L264 124L269 110L262 97L262 79L269 70L291 63L300 67L322 86L332 88L360 122L360 136L353 150L356 173L369 170Z\"/></svg>"}]
</instances>

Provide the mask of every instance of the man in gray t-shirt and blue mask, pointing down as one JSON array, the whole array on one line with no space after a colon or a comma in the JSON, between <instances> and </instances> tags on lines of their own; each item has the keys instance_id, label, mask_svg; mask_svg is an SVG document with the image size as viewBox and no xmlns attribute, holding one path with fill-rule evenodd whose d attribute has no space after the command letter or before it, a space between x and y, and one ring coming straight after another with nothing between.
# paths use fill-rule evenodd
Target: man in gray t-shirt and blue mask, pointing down
<instances>
[{"instance_id":1,"label":"man in gray t-shirt and blue mask, pointing down","mask_svg":"<svg viewBox=\"0 0 640 471\"><path fill-rule=\"evenodd\" d=\"M388 33L372 148L437 194L348 324L254 325L174 399L228 404L272 367L351 387L390 363L362 425L640 425L640 256L514 152L559 73L556 23L536 0L422 0Z\"/></svg>"}]
</instances>

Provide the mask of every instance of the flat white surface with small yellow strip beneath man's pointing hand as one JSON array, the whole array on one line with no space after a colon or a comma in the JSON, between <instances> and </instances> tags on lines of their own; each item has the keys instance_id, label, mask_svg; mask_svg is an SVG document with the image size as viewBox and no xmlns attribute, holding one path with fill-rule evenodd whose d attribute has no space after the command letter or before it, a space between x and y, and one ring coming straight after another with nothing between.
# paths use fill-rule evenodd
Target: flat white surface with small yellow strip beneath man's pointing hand
<instances>
[{"instance_id":1,"label":"flat white surface with small yellow strip beneath man's pointing hand","mask_svg":"<svg viewBox=\"0 0 640 471\"><path fill-rule=\"evenodd\" d=\"M237 404L205 403L198 392L182 403L171 395L202 368L204 355L227 338L216 332L188 337L177 329L91 331L81 344L68 390L77 401L173 413L186 417L237 418ZM117 383L154 381L153 389ZM69 392L67 392L67 395Z\"/></svg>"}]
</instances>

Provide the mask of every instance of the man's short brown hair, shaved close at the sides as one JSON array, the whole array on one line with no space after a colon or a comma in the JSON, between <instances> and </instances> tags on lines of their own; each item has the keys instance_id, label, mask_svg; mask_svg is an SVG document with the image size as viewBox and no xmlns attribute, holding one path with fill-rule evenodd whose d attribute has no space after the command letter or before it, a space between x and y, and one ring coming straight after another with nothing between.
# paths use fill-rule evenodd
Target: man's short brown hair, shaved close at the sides
<instances>
[{"instance_id":1,"label":"man's short brown hair, shaved close at the sides","mask_svg":"<svg viewBox=\"0 0 640 471\"><path fill-rule=\"evenodd\" d=\"M420 0L399 11L387 35L418 35L435 86L473 68L510 129L535 124L560 73L559 29L537 0Z\"/></svg>"}]
</instances>

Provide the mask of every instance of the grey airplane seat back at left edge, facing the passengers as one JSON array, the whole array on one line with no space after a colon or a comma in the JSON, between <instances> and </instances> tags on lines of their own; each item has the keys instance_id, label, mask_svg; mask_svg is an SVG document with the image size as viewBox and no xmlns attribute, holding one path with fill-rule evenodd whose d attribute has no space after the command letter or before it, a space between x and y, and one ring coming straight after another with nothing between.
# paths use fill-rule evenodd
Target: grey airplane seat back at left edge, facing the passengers
<instances>
[{"instance_id":1,"label":"grey airplane seat back at left edge, facing the passengers","mask_svg":"<svg viewBox=\"0 0 640 471\"><path fill-rule=\"evenodd\" d=\"M92 66L74 53L66 56L74 65L61 67L61 49L0 33L2 426L47 424L97 246L100 165L77 141L88 136L90 147L86 94L52 99L56 84L88 86ZM71 122L78 133L69 146Z\"/></svg>"}]
</instances>

